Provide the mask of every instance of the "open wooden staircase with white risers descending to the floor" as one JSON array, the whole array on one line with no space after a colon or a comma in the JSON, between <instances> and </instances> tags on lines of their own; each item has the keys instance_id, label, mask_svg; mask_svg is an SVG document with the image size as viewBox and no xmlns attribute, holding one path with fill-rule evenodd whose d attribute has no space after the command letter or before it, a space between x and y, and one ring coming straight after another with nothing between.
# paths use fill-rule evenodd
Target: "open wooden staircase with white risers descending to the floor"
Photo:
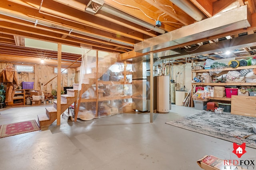
<instances>
[{"instance_id":1,"label":"open wooden staircase with white risers descending to the floor","mask_svg":"<svg viewBox=\"0 0 256 170\"><path fill-rule=\"evenodd\" d=\"M78 99L81 99L81 96L86 90L88 90L92 84L95 84L96 80L100 78L107 70L108 68L116 63L117 59L116 58L106 58L98 61L98 65L100 68L98 69L98 72L92 72L90 74L86 74L83 82L85 84L82 84L82 89L78 94L78 86L79 84L73 84L73 89L67 89L67 94L62 94L61 95L61 113L66 111L70 105L75 103L75 113L76 112L76 101ZM96 64L92 63L90 64L90 67L96 67ZM93 70L93 69L92 69ZM96 69L95 69L96 70ZM80 98L78 98L78 95ZM80 106L80 100L78 100L78 107ZM50 126L56 119L57 119L57 101L53 102L52 107L46 107L46 114L44 115L38 115L38 125L40 128L46 128ZM75 115L75 121L77 118L77 114Z\"/></svg>"}]
</instances>

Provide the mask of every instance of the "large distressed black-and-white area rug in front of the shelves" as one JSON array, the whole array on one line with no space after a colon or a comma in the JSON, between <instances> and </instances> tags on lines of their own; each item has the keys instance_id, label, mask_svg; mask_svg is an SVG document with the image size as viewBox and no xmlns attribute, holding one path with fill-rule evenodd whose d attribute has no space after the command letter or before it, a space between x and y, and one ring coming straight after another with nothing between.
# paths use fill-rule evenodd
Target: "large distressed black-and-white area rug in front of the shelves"
<instances>
[{"instance_id":1,"label":"large distressed black-and-white area rug in front of the shelves","mask_svg":"<svg viewBox=\"0 0 256 170\"><path fill-rule=\"evenodd\" d=\"M190 131L209 135L237 144L246 143L246 147L256 149L256 134L252 124L256 117L199 111L192 115L169 121L167 124Z\"/></svg>"}]
</instances>

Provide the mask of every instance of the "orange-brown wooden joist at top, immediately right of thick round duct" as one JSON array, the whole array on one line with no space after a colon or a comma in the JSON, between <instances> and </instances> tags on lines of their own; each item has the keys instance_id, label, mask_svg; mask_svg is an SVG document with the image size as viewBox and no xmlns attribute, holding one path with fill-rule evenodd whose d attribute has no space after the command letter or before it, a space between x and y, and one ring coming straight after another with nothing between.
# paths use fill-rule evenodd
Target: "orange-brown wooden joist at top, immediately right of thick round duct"
<instances>
[{"instance_id":1,"label":"orange-brown wooden joist at top, immediately right of thick round duct","mask_svg":"<svg viewBox=\"0 0 256 170\"><path fill-rule=\"evenodd\" d=\"M193 4L199 8L206 16L212 17L213 16L213 6L212 1L210 0L190 0Z\"/></svg>"}]
</instances>

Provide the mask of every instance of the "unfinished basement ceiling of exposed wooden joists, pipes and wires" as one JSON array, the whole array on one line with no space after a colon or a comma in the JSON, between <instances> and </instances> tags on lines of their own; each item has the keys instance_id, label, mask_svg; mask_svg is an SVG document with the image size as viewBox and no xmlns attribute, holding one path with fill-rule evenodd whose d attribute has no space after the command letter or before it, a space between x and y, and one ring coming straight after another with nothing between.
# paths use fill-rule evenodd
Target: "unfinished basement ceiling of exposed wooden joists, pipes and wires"
<instances>
[{"instance_id":1,"label":"unfinished basement ceiling of exposed wooden joists, pipes and wires","mask_svg":"<svg viewBox=\"0 0 256 170\"><path fill-rule=\"evenodd\" d=\"M1 0L0 62L36 64L44 54L56 58L56 51L25 47L25 38L74 47L89 45L92 49L120 53L121 59L128 60L144 55L134 51L137 43L245 5L248 18L251 18L249 27L222 31L208 37L198 36L186 43L154 51L168 50L165 56L161 54L160 57L175 56L174 64L186 63L187 54L182 55L186 51L196 52L196 48L206 47L203 45L214 46L230 38L253 35L256 32L254 0ZM255 53L255 46L245 43L244 47L240 45L232 49L230 56L225 51L207 49L207 52L195 55L194 59L204 61L207 57L251 56ZM63 53L63 66L80 56ZM56 66L57 62L50 65Z\"/></svg>"}]
</instances>

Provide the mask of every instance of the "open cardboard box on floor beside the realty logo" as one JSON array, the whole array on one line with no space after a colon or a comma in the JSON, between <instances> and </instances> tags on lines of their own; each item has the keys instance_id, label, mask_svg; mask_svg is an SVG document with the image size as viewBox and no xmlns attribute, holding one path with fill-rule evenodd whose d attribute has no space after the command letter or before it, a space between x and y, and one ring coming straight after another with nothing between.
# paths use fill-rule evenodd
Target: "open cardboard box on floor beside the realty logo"
<instances>
[{"instance_id":1,"label":"open cardboard box on floor beside the realty logo","mask_svg":"<svg viewBox=\"0 0 256 170\"><path fill-rule=\"evenodd\" d=\"M224 160L212 155L206 155L197 161L198 165L204 170L247 170L244 167L225 165Z\"/></svg>"}]
</instances>

